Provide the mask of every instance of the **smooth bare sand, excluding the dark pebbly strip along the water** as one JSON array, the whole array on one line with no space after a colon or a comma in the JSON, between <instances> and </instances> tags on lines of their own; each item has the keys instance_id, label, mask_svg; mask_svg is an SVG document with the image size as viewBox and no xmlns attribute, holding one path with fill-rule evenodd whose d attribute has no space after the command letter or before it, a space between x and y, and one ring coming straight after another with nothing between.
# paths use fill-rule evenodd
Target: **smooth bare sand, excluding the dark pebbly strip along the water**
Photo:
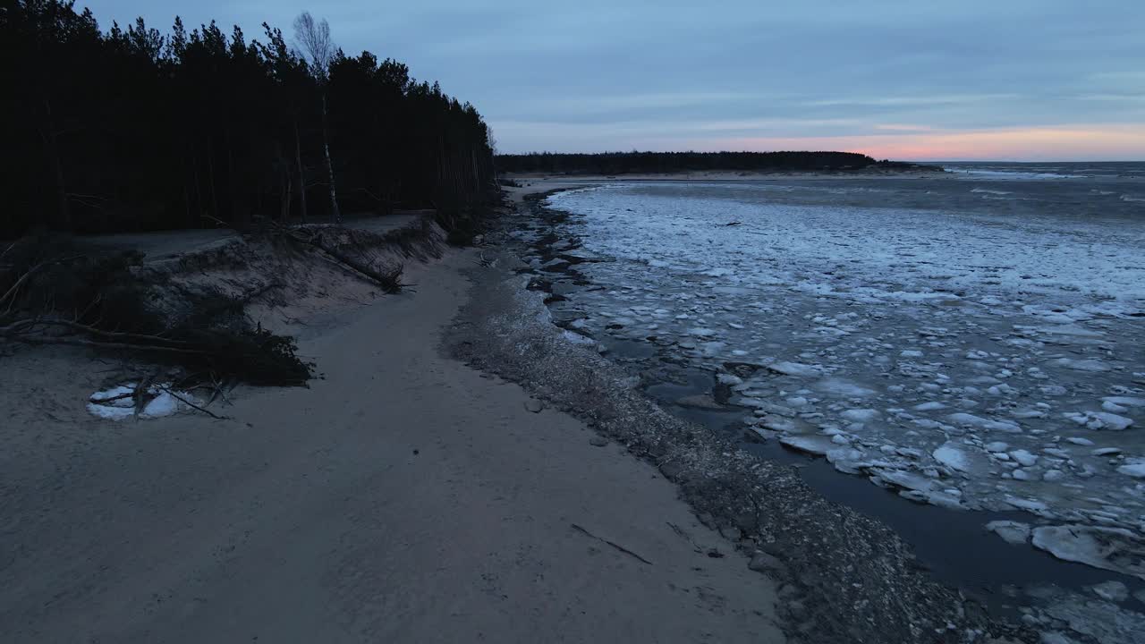
<instances>
[{"instance_id":1,"label":"smooth bare sand, excluding the dark pebbly strip along the water","mask_svg":"<svg viewBox=\"0 0 1145 644\"><path fill-rule=\"evenodd\" d=\"M654 469L439 354L471 261L303 343L325 379L236 421L86 419L50 360L0 359L6 402L64 401L0 422L0 641L782 641Z\"/></svg>"}]
</instances>

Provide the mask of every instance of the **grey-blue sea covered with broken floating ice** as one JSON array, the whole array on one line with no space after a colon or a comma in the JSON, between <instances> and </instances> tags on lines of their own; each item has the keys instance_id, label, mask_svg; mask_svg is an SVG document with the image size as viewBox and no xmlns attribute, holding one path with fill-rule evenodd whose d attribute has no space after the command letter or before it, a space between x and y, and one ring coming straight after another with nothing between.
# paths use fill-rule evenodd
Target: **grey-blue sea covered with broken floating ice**
<instances>
[{"instance_id":1,"label":"grey-blue sea covered with broken floating ice","mask_svg":"<svg viewBox=\"0 0 1145 644\"><path fill-rule=\"evenodd\" d=\"M1145 209L1073 181L560 193L591 288L554 316L711 371L749 427L843 473L1026 511L1042 529L1008 539L1145 579Z\"/></svg>"}]
</instances>

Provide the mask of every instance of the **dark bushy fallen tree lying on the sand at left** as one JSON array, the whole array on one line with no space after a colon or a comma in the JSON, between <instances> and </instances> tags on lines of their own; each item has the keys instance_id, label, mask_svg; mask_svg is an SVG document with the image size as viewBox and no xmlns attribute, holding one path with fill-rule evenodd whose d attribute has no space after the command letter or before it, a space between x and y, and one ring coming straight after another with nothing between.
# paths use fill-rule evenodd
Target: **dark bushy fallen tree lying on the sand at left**
<instances>
[{"instance_id":1,"label":"dark bushy fallen tree lying on the sand at left","mask_svg":"<svg viewBox=\"0 0 1145 644\"><path fill-rule=\"evenodd\" d=\"M127 352L177 363L204 379L301 385L310 366L293 338L242 315L279 284L239 296L220 290L184 293L194 315L172 319L149 307L152 289L177 289L133 273L133 253L76 252L57 239L23 239L0 256L0 343L70 345Z\"/></svg>"}]
</instances>

